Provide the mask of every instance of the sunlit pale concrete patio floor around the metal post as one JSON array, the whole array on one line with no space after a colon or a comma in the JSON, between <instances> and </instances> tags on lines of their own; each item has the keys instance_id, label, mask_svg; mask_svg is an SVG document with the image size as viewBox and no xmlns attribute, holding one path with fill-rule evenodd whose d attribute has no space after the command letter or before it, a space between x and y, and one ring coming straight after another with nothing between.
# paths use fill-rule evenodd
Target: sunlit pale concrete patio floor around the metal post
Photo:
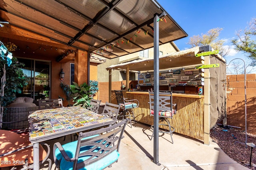
<instances>
[{"instance_id":1,"label":"sunlit pale concrete patio floor around the metal post","mask_svg":"<svg viewBox=\"0 0 256 170\"><path fill-rule=\"evenodd\" d=\"M220 147L210 142L204 145L202 141L173 134L174 144L169 134L159 133L159 163L153 163L154 141L150 141L152 131L149 125L134 123L132 128L128 125L124 131L124 139L120 145L120 157L109 170L248 170L227 156ZM47 141L52 148L55 142L62 144L70 142L70 135L64 138ZM74 140L74 139L72 139ZM51 150L52 152L52 150ZM50 154L52 159L52 153ZM56 170L52 162L52 170ZM48 164L41 166L47 170Z\"/></svg>"}]
</instances>

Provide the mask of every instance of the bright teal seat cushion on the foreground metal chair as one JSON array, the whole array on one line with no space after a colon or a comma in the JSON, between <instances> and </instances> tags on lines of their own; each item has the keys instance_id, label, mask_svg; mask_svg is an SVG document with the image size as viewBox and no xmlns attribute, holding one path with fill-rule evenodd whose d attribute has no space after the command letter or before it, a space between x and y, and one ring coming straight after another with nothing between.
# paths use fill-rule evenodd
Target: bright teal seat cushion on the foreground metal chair
<instances>
[{"instance_id":1,"label":"bright teal seat cushion on the foreground metal chair","mask_svg":"<svg viewBox=\"0 0 256 170\"><path fill-rule=\"evenodd\" d=\"M77 146L77 141L62 145L63 149L66 151L66 153L68 154L68 156L70 158L74 158L74 156L76 154L76 146ZM90 148L91 148L90 146L82 147L80 150L80 153L85 152L86 150L89 150ZM60 153L59 149L55 150L55 155L58 160L61 159L61 161L60 161L60 169L61 170L72 170L73 169L73 162L66 161L63 158L62 154ZM84 160L86 160L88 158L90 158L90 156L82 156L82 157L78 158L78 163L83 162ZM110 164L116 162L116 160L118 160L118 158L119 158L119 153L117 150L115 150L114 152L110 153L108 156L105 156L104 158L98 160L97 162L94 162L93 164L90 164L90 165L82 168L81 170L102 170L102 169L108 167Z\"/></svg>"}]
</instances>

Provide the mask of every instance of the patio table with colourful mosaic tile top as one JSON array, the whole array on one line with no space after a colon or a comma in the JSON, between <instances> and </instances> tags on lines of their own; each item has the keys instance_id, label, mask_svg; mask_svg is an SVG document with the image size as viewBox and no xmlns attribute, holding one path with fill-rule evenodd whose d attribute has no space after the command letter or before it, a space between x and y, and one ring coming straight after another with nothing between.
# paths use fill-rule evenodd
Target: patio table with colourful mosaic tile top
<instances>
[{"instance_id":1,"label":"patio table with colourful mosaic tile top","mask_svg":"<svg viewBox=\"0 0 256 170\"><path fill-rule=\"evenodd\" d=\"M80 106L37 110L29 116L29 140L34 149L34 170L39 170L39 142L93 129L114 122Z\"/></svg>"}]
</instances>

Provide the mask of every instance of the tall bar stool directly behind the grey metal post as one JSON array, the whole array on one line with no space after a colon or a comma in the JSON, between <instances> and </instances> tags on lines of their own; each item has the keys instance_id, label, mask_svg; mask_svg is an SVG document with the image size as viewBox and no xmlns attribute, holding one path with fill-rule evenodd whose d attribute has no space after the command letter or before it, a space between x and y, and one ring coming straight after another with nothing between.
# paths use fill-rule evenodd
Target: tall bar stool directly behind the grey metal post
<instances>
[{"instance_id":1,"label":"tall bar stool directly behind the grey metal post","mask_svg":"<svg viewBox=\"0 0 256 170\"><path fill-rule=\"evenodd\" d=\"M154 92L149 93L149 107L150 107L150 116L154 116ZM172 103L172 92L163 93L160 92L159 94L159 105L158 105L158 115L159 115L159 122L166 122L166 123L159 123L158 125L167 126L168 130L159 129L161 133L170 133L172 139L172 133L175 131L174 127L170 125L169 119L172 119L173 115L176 114L177 104ZM151 125L150 129L153 130L154 125ZM150 140L152 140L154 132ZM172 139L173 143L173 139Z\"/></svg>"}]
</instances>

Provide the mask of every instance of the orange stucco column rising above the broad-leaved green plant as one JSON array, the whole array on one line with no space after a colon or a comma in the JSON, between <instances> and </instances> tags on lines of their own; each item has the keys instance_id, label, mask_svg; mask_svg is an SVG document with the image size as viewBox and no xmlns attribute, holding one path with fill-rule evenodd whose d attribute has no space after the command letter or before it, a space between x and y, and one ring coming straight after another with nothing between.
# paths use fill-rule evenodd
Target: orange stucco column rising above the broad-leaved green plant
<instances>
[{"instance_id":1,"label":"orange stucco column rising above the broad-leaved green plant","mask_svg":"<svg viewBox=\"0 0 256 170\"><path fill-rule=\"evenodd\" d=\"M75 82L80 85L88 82L88 53L78 49L75 54Z\"/></svg>"}]
</instances>

